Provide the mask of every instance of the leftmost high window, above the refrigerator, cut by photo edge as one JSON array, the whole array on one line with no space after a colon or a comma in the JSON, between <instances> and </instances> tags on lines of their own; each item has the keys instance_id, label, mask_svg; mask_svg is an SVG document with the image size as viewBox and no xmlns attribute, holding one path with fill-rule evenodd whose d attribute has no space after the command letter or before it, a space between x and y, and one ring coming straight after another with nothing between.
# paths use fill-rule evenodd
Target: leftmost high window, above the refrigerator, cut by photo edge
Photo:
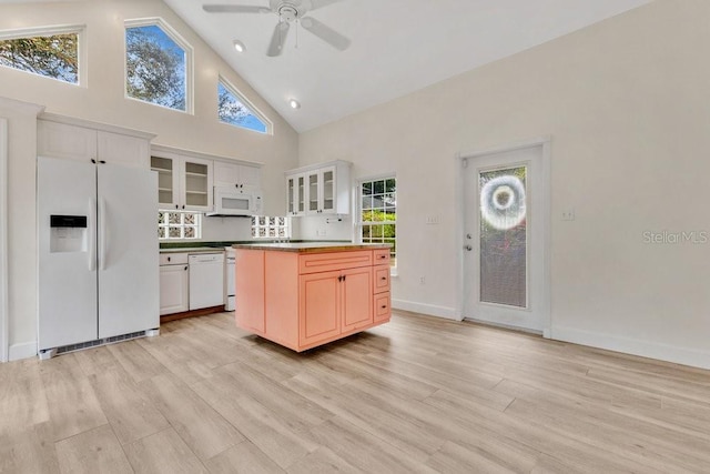
<instances>
[{"instance_id":1,"label":"leftmost high window, above the refrigerator, cut by photo edge","mask_svg":"<svg viewBox=\"0 0 710 474\"><path fill-rule=\"evenodd\" d=\"M0 32L0 65L79 84L82 31L62 27Z\"/></svg>"}]
</instances>

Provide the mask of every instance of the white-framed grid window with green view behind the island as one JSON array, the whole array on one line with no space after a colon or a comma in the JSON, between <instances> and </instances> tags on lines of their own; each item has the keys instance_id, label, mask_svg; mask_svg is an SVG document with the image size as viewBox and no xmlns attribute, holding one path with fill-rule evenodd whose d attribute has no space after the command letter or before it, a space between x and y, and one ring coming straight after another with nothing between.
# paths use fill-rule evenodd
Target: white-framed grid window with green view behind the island
<instances>
[{"instance_id":1,"label":"white-framed grid window with green view behind the island","mask_svg":"<svg viewBox=\"0 0 710 474\"><path fill-rule=\"evenodd\" d=\"M359 183L359 228L363 243L388 243L397 266L397 180L387 177Z\"/></svg>"}]
</instances>

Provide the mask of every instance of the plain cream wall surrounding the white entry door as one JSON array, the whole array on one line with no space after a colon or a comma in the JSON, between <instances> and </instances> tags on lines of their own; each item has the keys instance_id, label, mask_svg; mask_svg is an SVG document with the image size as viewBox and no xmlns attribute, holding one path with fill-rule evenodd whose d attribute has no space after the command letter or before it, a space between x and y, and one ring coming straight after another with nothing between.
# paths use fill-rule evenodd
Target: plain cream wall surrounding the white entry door
<instances>
[{"instance_id":1,"label":"plain cream wall surrounding the white entry door","mask_svg":"<svg viewBox=\"0 0 710 474\"><path fill-rule=\"evenodd\" d=\"M643 234L710 232L708 18L652 2L303 133L300 165L396 172L394 303L454 316L454 157L551 135L552 337L710 367L710 243Z\"/></svg>"}]
</instances>

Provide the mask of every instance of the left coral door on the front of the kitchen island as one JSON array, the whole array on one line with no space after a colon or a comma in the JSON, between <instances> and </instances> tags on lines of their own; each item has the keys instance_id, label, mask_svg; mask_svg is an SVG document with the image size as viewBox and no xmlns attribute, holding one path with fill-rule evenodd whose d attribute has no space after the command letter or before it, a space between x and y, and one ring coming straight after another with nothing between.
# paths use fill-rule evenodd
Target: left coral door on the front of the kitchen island
<instances>
[{"instance_id":1,"label":"left coral door on the front of the kitchen island","mask_svg":"<svg viewBox=\"0 0 710 474\"><path fill-rule=\"evenodd\" d=\"M300 276L301 346L329 340L341 333L342 274L334 271Z\"/></svg>"}]
</instances>

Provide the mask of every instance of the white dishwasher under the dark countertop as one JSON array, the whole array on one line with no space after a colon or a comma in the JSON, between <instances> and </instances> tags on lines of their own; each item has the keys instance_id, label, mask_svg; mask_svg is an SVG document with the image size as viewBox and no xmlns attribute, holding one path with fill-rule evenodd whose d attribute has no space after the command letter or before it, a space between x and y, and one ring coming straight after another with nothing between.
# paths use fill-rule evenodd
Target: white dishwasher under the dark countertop
<instances>
[{"instance_id":1,"label":"white dishwasher under the dark countertop","mask_svg":"<svg viewBox=\"0 0 710 474\"><path fill-rule=\"evenodd\" d=\"M190 265L190 310L224 304L224 253L193 253Z\"/></svg>"}]
</instances>

